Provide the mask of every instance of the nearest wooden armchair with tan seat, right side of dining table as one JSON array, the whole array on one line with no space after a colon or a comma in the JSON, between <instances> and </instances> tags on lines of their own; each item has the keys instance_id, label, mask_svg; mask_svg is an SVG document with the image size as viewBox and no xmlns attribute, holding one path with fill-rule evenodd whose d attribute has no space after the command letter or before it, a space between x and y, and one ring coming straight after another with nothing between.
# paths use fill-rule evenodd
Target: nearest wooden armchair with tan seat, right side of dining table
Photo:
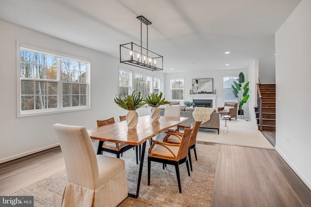
<instances>
[{"instance_id":1,"label":"nearest wooden armchair with tan seat, right side of dining table","mask_svg":"<svg viewBox=\"0 0 311 207\"><path fill-rule=\"evenodd\" d=\"M148 149L148 185L150 185L151 161L160 162L163 165L170 164L175 166L178 188L181 193L179 165L186 162L188 175L190 176L188 151L192 129L192 126L191 128L185 128L179 144L151 140L152 145Z\"/></svg>"}]
</instances>

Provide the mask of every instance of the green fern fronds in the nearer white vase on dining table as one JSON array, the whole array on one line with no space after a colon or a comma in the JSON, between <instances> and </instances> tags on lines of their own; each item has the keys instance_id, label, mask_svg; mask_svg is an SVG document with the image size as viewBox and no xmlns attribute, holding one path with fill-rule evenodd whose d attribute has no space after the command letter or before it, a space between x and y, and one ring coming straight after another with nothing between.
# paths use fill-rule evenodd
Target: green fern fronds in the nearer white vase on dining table
<instances>
[{"instance_id":1,"label":"green fern fronds in the nearer white vase on dining table","mask_svg":"<svg viewBox=\"0 0 311 207\"><path fill-rule=\"evenodd\" d=\"M115 103L118 104L122 109L125 109L128 111L137 110L138 108L145 105L140 95L140 92L135 93L135 91L133 91L131 96L126 96L123 99L120 98L119 95L116 95Z\"/></svg>"}]
</instances>

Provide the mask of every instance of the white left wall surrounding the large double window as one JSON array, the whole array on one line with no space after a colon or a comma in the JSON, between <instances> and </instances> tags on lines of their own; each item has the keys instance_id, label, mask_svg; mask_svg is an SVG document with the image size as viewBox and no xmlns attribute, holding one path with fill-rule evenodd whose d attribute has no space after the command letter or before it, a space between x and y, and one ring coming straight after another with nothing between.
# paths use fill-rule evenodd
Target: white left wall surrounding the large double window
<instances>
[{"instance_id":1,"label":"white left wall surrounding the large double window","mask_svg":"<svg viewBox=\"0 0 311 207\"><path fill-rule=\"evenodd\" d=\"M55 123L91 128L96 127L97 119L113 116L119 121L119 115L127 112L113 101L118 93L118 58L2 20L0 31L0 163L57 146L58 141L52 130ZM16 40L91 60L92 110L17 118ZM119 47L116 49L119 50ZM145 75L150 73L143 69L135 71ZM163 73L155 76L164 80ZM161 87L164 88L164 81ZM138 110L140 116L148 113L149 109Z\"/></svg>"}]
</instances>

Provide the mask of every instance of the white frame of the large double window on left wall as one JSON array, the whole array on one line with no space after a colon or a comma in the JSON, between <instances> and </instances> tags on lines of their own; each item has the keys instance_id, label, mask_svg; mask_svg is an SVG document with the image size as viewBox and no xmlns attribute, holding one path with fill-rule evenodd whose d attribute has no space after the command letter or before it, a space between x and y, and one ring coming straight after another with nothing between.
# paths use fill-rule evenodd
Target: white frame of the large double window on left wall
<instances>
[{"instance_id":1,"label":"white frame of the large double window on left wall","mask_svg":"<svg viewBox=\"0 0 311 207\"><path fill-rule=\"evenodd\" d=\"M30 44L25 44L25 43L20 43L17 41L17 118L20 117L28 117L28 116L37 116L37 115L44 115L44 114L52 114L52 113L62 113L62 112L68 112L68 111L85 111L85 110L90 110L91 109L91 99L90 99L90 94L91 94L91 87L90 87L90 61L62 53L59 51L54 51L52 49L47 49L47 48L41 48L39 46L34 46ZM49 81L49 82L57 82L58 84L58 90L57 90L57 108L52 108L52 109L34 109L34 110L27 110L27 111L22 111L21 110L21 80L25 80L22 77L20 77L20 49L21 50L29 50L33 51L36 53L41 53L41 54L47 54L56 57L57 60L57 80L46 80L46 79L28 79L28 80L35 80L35 81ZM68 59L72 61L77 61L77 62L83 62L86 64L86 106L74 106L74 107L63 107L63 83L66 81L61 80L61 66L60 66L60 61L59 59ZM74 83L74 82L68 82L68 83ZM80 82L79 82L80 83Z\"/></svg>"}]
</instances>

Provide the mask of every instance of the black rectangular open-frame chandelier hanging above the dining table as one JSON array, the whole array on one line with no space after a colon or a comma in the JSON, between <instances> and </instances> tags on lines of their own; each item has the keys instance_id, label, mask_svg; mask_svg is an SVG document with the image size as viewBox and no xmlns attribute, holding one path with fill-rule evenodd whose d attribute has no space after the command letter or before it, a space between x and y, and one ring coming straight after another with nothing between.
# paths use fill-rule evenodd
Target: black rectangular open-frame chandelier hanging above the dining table
<instances>
[{"instance_id":1,"label":"black rectangular open-frame chandelier hanging above the dining table","mask_svg":"<svg viewBox=\"0 0 311 207\"><path fill-rule=\"evenodd\" d=\"M152 71L163 70L163 56L148 50L148 25L151 25L151 22L143 16L138 16L137 19L140 20L140 46L133 42L120 45L120 63ZM147 48L142 47L142 23L147 26Z\"/></svg>"}]
</instances>

